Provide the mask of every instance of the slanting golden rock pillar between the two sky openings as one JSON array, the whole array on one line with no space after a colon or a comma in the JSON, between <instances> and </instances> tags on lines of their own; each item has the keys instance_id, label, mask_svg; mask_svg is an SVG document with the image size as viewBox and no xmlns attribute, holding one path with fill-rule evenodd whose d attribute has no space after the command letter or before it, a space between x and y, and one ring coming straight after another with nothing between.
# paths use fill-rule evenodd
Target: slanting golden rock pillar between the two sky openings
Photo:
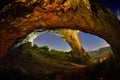
<instances>
[{"instance_id":1,"label":"slanting golden rock pillar between the two sky openings","mask_svg":"<svg viewBox=\"0 0 120 80\"><path fill-rule=\"evenodd\" d=\"M78 37L79 30L72 29L57 29L56 33L60 34L72 48L73 58L84 57L89 58L90 56L85 52Z\"/></svg>"}]
</instances>

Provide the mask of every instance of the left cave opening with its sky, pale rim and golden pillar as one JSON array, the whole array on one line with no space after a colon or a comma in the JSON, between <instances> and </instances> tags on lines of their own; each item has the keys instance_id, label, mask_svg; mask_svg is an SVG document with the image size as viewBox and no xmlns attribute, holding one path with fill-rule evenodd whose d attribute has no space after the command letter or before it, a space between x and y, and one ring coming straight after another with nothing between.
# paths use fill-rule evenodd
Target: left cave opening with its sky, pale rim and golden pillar
<instances>
[{"instance_id":1,"label":"left cave opening with its sky, pale rim and golden pillar","mask_svg":"<svg viewBox=\"0 0 120 80\"><path fill-rule=\"evenodd\" d=\"M70 52L72 59L89 58L90 56L82 48L78 37L78 32L79 30L72 29L56 29L45 31L37 29L27 35L26 38L15 45L15 47L27 42L31 42L31 46L36 44L39 47L49 47L49 50L55 49L59 51Z\"/></svg>"}]
</instances>

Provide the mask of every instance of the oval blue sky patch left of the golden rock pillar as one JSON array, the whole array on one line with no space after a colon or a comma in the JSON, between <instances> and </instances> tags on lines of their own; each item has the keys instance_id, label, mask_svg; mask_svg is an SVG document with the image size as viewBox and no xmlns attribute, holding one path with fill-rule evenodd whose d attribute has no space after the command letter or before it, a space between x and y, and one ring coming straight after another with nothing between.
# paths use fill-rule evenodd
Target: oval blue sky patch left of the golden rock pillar
<instances>
[{"instance_id":1,"label":"oval blue sky patch left of the golden rock pillar","mask_svg":"<svg viewBox=\"0 0 120 80\"><path fill-rule=\"evenodd\" d=\"M64 41L61 37L50 33L41 34L40 36L34 39L34 42L35 44L38 44L38 46L49 46L51 49L57 50L71 49L68 43Z\"/></svg>"}]
</instances>

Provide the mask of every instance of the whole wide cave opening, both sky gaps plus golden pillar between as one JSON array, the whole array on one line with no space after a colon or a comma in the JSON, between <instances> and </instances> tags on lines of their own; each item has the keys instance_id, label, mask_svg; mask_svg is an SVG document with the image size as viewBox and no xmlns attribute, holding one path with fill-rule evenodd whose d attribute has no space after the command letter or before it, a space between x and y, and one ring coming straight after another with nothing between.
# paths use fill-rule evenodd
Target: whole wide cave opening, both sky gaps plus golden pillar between
<instances>
[{"instance_id":1,"label":"whole wide cave opening, both sky gaps plus golden pillar between","mask_svg":"<svg viewBox=\"0 0 120 80\"><path fill-rule=\"evenodd\" d=\"M75 35L72 34L75 32ZM73 37L71 37L73 36ZM48 46L49 50L64 52L73 51L73 55L78 53L88 55L91 58L108 58L112 54L110 45L102 38L92 34L87 34L71 29L45 30L37 29L30 33L21 43L31 42L31 46L36 44L39 47ZM20 45L17 44L16 46ZM84 54L85 53L85 54Z\"/></svg>"}]
</instances>

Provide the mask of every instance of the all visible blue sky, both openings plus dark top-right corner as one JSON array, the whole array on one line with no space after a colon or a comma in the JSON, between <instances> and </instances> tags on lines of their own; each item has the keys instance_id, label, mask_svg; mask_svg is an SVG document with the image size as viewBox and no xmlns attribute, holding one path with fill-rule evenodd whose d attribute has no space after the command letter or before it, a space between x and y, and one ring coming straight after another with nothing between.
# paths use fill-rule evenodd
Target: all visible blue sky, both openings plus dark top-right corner
<instances>
[{"instance_id":1,"label":"all visible blue sky, both openings plus dark top-right corner","mask_svg":"<svg viewBox=\"0 0 120 80\"><path fill-rule=\"evenodd\" d=\"M120 0L104 0L105 6L109 7L115 15L117 15L118 10L120 9ZM119 15L120 16L120 15ZM83 48L89 52L93 50L98 50L101 47L109 46L105 40L102 38L99 38L95 35L87 34L84 32L80 32L78 34L80 37L80 41L82 43ZM34 43L38 44L39 46L49 46L51 49L57 49L57 50L71 50L71 47L67 42L65 42L60 37L54 35L45 33L40 36L38 36L36 39L34 39Z\"/></svg>"}]
</instances>

